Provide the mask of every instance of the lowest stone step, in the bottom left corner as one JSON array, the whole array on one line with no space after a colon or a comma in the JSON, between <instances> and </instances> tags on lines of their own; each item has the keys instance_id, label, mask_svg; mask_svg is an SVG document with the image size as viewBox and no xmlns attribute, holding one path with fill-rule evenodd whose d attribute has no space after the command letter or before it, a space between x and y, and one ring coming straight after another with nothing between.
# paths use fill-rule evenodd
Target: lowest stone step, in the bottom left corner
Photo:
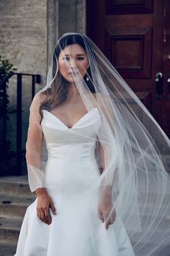
<instances>
[{"instance_id":1,"label":"lowest stone step, in the bottom left corner","mask_svg":"<svg viewBox=\"0 0 170 256\"><path fill-rule=\"evenodd\" d=\"M17 243L2 241L0 248L0 256L13 256L16 252Z\"/></svg>"}]
</instances>

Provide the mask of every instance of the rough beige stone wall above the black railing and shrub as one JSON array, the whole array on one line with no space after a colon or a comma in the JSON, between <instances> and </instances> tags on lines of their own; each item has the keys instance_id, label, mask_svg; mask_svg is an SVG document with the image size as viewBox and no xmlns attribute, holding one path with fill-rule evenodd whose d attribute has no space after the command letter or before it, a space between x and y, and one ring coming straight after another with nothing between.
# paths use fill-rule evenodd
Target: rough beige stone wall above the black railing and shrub
<instances>
[{"instance_id":1,"label":"rough beige stone wall above the black railing and shrub","mask_svg":"<svg viewBox=\"0 0 170 256\"><path fill-rule=\"evenodd\" d=\"M19 72L45 74L46 0L1 0L0 53Z\"/></svg>"}]
</instances>

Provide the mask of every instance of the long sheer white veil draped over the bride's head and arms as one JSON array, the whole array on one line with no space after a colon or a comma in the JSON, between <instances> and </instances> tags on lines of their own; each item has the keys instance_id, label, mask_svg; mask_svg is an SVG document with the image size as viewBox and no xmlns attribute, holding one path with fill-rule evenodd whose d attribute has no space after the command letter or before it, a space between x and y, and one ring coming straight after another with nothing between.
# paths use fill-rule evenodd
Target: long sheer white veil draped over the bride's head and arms
<instances>
[{"instance_id":1,"label":"long sheer white veil draped over the bride's head and arms","mask_svg":"<svg viewBox=\"0 0 170 256\"><path fill-rule=\"evenodd\" d=\"M88 60L86 65L82 59L73 58L75 47L72 46L77 46L77 51L80 46L83 48ZM135 255L151 255L159 247L166 246L170 238L170 180L162 161L162 155L169 153L169 138L86 35L66 33L58 40L47 83L30 106L27 139L30 188L34 191L37 187L45 187L47 152L40 113L42 115L42 109L57 108L66 100L69 85L58 61L68 70L69 79L79 90L86 111L97 108L101 116L99 129L94 122L96 139L89 137L96 143L95 157L102 170L86 191L91 196L91 204L96 193L104 193L107 198L111 191L109 213L116 209L128 231ZM35 135L32 135L32 127L37 129ZM82 140L86 136L79 135L79 129L71 129L71 132ZM37 141L39 148L35 146ZM33 157L34 150L41 150L39 159ZM83 177L87 182L86 176Z\"/></svg>"}]
</instances>

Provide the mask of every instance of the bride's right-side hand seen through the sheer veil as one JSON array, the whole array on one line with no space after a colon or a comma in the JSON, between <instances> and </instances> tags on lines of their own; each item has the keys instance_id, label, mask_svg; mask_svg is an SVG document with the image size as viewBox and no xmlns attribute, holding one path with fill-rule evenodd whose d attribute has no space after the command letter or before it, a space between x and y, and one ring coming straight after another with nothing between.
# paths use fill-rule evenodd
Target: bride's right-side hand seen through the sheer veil
<instances>
[{"instance_id":1,"label":"bride's right-side hand seen through the sheer veil","mask_svg":"<svg viewBox=\"0 0 170 256\"><path fill-rule=\"evenodd\" d=\"M113 208L112 201L108 198L102 197L98 205L98 215L102 222L105 222L105 229L114 223L116 219L116 210Z\"/></svg>"}]
</instances>

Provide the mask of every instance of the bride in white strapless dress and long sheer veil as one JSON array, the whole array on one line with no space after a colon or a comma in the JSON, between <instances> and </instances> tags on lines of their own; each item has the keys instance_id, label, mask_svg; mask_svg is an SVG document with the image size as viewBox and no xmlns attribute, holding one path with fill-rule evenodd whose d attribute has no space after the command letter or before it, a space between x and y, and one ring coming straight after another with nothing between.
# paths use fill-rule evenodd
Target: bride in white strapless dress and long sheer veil
<instances>
[{"instance_id":1,"label":"bride in white strapless dress and long sheer veil","mask_svg":"<svg viewBox=\"0 0 170 256\"><path fill-rule=\"evenodd\" d=\"M26 158L37 199L16 255L151 255L169 235L169 226L158 233L170 209L158 147L169 150L168 138L99 48L63 35L30 107Z\"/></svg>"}]
</instances>

